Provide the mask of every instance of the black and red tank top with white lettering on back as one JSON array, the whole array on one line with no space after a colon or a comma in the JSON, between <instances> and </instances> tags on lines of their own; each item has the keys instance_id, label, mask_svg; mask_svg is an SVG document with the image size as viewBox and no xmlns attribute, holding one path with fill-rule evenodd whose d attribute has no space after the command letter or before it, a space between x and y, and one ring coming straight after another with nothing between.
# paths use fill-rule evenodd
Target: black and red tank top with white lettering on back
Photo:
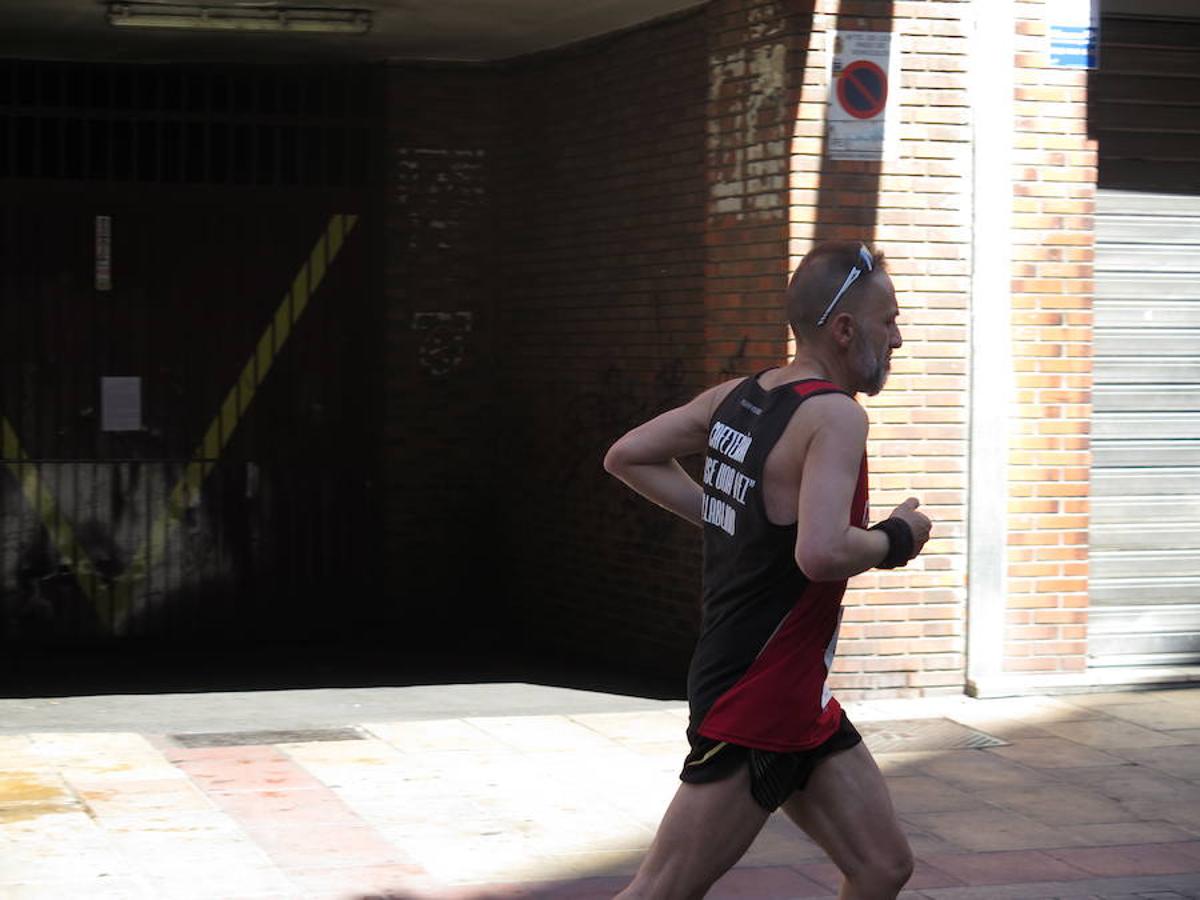
<instances>
[{"instance_id":1,"label":"black and red tank top with white lettering on back","mask_svg":"<svg viewBox=\"0 0 1200 900\"><path fill-rule=\"evenodd\" d=\"M815 378L764 390L754 376L713 414L703 469L703 618L688 673L692 740L701 734L791 751L838 730L841 708L826 682L846 582L810 582L800 571L796 523L767 518L763 468L800 403L845 392ZM847 522L863 528L866 481L864 455L846 510Z\"/></svg>"}]
</instances>

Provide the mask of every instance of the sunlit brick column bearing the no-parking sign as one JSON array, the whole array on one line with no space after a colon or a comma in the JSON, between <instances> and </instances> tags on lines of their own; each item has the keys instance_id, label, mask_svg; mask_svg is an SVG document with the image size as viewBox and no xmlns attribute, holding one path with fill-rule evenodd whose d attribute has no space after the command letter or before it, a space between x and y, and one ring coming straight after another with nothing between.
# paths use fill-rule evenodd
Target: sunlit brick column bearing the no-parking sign
<instances>
[{"instance_id":1,"label":"sunlit brick column bearing the no-parking sign","mask_svg":"<svg viewBox=\"0 0 1200 900\"><path fill-rule=\"evenodd\" d=\"M817 240L887 252L905 346L887 389L862 397L872 518L916 494L936 521L920 559L854 578L832 684L838 696L959 691L965 682L971 127L966 4L821 0L792 131L790 264ZM828 34L890 31L901 56L900 154L824 156Z\"/></svg>"}]
</instances>

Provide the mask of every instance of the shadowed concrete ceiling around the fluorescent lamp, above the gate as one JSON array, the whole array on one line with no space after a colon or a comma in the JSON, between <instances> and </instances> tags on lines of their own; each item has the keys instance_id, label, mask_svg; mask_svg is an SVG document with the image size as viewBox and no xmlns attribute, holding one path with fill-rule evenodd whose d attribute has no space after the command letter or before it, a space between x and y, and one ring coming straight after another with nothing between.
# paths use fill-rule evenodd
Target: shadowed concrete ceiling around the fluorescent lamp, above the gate
<instances>
[{"instance_id":1,"label":"shadowed concrete ceiling around the fluorescent lamp, above the gate","mask_svg":"<svg viewBox=\"0 0 1200 900\"><path fill-rule=\"evenodd\" d=\"M102 0L0 0L0 58L126 61L509 59L607 34L701 0L283 0L370 10L361 36L118 29ZM191 0L206 6L262 5Z\"/></svg>"}]
</instances>

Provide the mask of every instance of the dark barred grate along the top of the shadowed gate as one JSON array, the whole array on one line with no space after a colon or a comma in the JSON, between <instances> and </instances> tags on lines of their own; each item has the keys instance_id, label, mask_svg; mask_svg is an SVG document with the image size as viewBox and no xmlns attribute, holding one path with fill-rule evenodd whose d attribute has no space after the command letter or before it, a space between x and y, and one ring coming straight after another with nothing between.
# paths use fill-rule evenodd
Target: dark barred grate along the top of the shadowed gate
<instances>
[{"instance_id":1,"label":"dark barred grate along the top of the shadowed gate","mask_svg":"<svg viewBox=\"0 0 1200 900\"><path fill-rule=\"evenodd\" d=\"M0 60L0 179L360 187L362 66Z\"/></svg>"}]
</instances>

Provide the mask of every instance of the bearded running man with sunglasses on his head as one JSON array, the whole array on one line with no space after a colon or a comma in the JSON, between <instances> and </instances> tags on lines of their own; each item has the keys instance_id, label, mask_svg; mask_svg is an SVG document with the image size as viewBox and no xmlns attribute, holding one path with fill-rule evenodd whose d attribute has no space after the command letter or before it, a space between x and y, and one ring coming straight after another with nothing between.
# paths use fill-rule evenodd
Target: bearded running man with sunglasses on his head
<instances>
[{"instance_id":1,"label":"bearded running man with sunglasses on his head","mask_svg":"<svg viewBox=\"0 0 1200 900\"><path fill-rule=\"evenodd\" d=\"M701 898L784 812L845 876L842 900L890 900L912 852L887 784L826 685L846 580L929 539L908 498L869 526L866 413L900 347L882 254L812 248L787 288L786 366L712 388L637 426L605 468L703 528L703 616L688 673L691 752L622 898ZM706 454L697 484L677 460Z\"/></svg>"}]
</instances>

